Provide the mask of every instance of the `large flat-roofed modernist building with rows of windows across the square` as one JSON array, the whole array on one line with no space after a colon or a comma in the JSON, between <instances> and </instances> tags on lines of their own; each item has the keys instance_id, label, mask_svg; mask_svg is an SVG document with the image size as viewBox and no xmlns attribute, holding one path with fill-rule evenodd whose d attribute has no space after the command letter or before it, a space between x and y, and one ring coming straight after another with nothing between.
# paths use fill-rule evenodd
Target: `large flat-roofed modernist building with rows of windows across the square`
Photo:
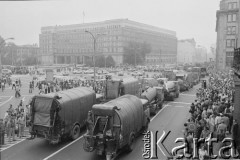
<instances>
[{"instance_id":1,"label":"large flat-roofed modernist building with rows of windows across the square","mask_svg":"<svg viewBox=\"0 0 240 160\"><path fill-rule=\"evenodd\" d=\"M111 55L117 65L123 63L124 47L129 42L146 42L151 53L146 63L176 63L176 32L130 21L128 19L107 20L95 23L42 27L39 35L41 63L81 64L93 56L96 38L96 54Z\"/></svg>"}]
</instances>

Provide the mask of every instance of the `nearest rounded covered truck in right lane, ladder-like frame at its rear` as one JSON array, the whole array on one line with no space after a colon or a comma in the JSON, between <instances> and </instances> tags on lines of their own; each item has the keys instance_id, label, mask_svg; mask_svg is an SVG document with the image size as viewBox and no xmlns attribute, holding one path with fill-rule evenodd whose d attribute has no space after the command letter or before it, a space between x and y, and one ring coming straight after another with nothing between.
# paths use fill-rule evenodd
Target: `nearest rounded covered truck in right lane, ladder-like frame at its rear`
<instances>
[{"instance_id":1,"label":"nearest rounded covered truck in right lane, ladder-like frame at its rear","mask_svg":"<svg viewBox=\"0 0 240 160\"><path fill-rule=\"evenodd\" d=\"M131 152L136 137L148 128L150 121L143 101L133 95L124 95L105 104L94 105L94 126L89 134L84 135L84 150L96 150L97 155L105 155L107 160L125 149Z\"/></svg>"}]
</instances>

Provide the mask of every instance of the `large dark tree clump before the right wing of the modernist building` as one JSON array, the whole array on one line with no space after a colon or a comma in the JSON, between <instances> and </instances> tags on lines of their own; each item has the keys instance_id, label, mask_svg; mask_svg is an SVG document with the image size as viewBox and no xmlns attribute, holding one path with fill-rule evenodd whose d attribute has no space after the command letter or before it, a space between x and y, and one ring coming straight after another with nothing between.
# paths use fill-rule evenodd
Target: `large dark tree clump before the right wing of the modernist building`
<instances>
[{"instance_id":1,"label":"large dark tree clump before the right wing of the modernist building","mask_svg":"<svg viewBox=\"0 0 240 160\"><path fill-rule=\"evenodd\" d=\"M124 47L123 63L124 64L143 64L145 62L146 54L152 51L150 44L143 42L129 42L126 47Z\"/></svg>"}]
</instances>

